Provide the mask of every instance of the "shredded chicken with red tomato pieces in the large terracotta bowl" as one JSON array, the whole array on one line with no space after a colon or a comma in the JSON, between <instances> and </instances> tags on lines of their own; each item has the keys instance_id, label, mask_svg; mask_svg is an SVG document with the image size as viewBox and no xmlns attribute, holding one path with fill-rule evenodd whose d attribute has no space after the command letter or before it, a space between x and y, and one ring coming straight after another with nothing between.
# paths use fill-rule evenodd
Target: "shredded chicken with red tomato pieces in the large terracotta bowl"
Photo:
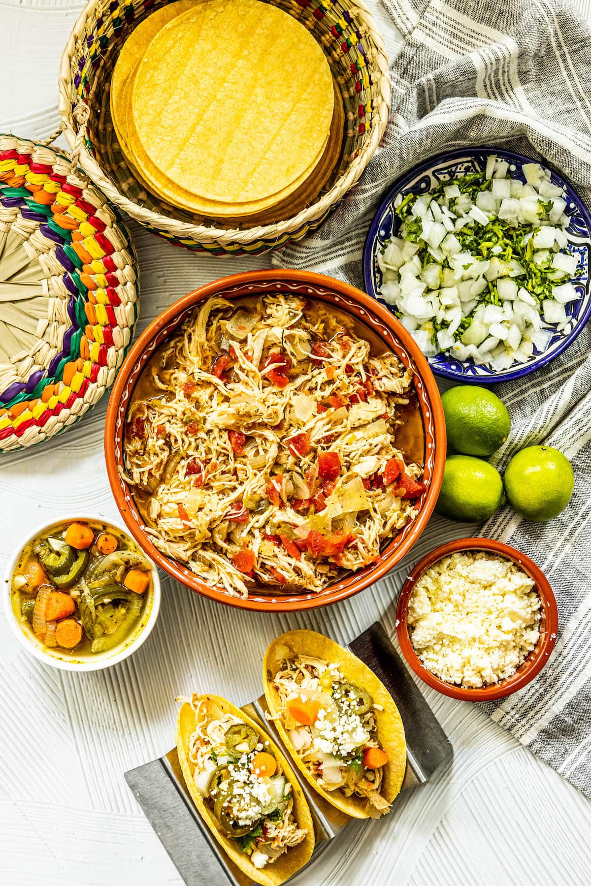
<instances>
[{"instance_id":1,"label":"shredded chicken with red tomato pieces in the large terracotta bowl","mask_svg":"<svg viewBox=\"0 0 591 886\"><path fill-rule=\"evenodd\" d=\"M209 299L128 409L125 478L157 548L231 595L322 591L416 517L394 445L411 372L323 306Z\"/></svg>"}]
</instances>

